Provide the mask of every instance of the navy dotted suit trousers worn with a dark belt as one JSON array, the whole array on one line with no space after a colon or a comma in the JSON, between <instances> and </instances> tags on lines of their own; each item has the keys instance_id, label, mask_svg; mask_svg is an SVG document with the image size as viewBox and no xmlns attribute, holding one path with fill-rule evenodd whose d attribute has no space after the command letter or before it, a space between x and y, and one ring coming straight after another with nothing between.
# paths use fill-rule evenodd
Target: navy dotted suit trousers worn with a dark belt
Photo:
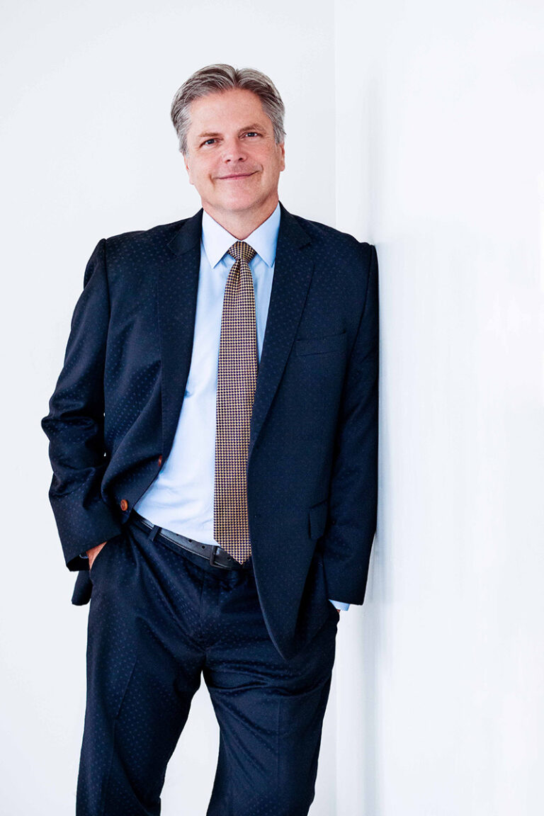
<instances>
[{"instance_id":1,"label":"navy dotted suit trousers worn with a dark belt","mask_svg":"<svg viewBox=\"0 0 544 816\"><path fill-rule=\"evenodd\" d=\"M91 568L77 816L160 814L166 765L201 676L219 723L206 816L307 814L338 611L327 601L324 625L285 660L251 566L213 566L157 530L129 520Z\"/></svg>"}]
</instances>

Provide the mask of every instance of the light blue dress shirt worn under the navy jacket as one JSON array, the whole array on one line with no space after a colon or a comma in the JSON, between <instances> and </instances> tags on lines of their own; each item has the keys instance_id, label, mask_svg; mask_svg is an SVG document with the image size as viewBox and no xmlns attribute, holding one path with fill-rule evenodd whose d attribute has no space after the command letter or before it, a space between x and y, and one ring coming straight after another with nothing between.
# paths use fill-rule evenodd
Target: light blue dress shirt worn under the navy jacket
<instances>
[{"instance_id":1,"label":"light blue dress shirt worn under the navy jacket","mask_svg":"<svg viewBox=\"0 0 544 816\"><path fill-rule=\"evenodd\" d=\"M256 255L250 261L257 322L257 353L263 348L272 291L280 205L245 242ZM197 313L184 402L170 455L135 510L152 524L189 539L216 544L214 539L215 401L223 296L234 264L228 249L233 237L206 211L202 214L201 264ZM330 599L329 599L330 600ZM347 610L349 604L331 601Z\"/></svg>"}]
</instances>

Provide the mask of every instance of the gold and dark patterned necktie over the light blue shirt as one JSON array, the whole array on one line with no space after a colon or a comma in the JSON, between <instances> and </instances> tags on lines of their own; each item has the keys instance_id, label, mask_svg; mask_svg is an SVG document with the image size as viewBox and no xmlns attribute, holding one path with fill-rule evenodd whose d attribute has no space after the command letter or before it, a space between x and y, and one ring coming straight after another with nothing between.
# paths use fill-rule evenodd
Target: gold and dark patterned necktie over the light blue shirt
<instances>
[{"instance_id":1,"label":"gold and dark patterned necktie over the light blue shirt","mask_svg":"<svg viewBox=\"0 0 544 816\"><path fill-rule=\"evenodd\" d=\"M251 555L247 518L247 452L257 384L257 326L250 260L244 241L228 251L235 259L223 299L215 423L214 538L243 563Z\"/></svg>"}]
</instances>

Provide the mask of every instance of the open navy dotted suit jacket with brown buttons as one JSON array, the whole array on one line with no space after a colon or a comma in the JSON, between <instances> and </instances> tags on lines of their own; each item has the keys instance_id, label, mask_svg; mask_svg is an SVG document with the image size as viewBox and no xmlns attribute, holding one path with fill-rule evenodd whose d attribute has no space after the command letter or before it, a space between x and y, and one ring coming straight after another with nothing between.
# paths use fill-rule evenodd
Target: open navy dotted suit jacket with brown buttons
<instances>
[{"instance_id":1,"label":"open navy dotted suit jacket with brown buttons","mask_svg":"<svg viewBox=\"0 0 544 816\"><path fill-rule=\"evenodd\" d=\"M247 497L254 574L276 649L315 634L328 598L362 604L378 470L374 246L281 206L251 417ZM169 455L191 362L202 210L102 239L91 255L42 428L49 497L73 603L80 553L123 523Z\"/></svg>"}]
</instances>

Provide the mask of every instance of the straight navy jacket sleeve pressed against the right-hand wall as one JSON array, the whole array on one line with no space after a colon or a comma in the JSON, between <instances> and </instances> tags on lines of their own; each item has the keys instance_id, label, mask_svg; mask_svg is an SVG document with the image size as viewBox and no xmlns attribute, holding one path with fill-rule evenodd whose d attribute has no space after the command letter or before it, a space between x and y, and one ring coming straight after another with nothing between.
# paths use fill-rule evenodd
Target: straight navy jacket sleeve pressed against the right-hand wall
<instances>
[{"instance_id":1,"label":"straight navy jacket sleeve pressed against the right-hand wall","mask_svg":"<svg viewBox=\"0 0 544 816\"><path fill-rule=\"evenodd\" d=\"M347 362L321 543L329 597L362 604L378 503L378 256L369 247L365 304Z\"/></svg>"}]
</instances>

